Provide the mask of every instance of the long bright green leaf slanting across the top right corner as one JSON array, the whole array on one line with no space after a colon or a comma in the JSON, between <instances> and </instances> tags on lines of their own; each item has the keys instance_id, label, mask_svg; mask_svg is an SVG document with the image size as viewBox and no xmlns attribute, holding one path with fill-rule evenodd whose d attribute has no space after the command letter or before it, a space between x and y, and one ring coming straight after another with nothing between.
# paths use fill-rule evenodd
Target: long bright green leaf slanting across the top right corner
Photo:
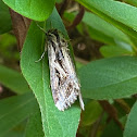
<instances>
[{"instance_id":1,"label":"long bright green leaf slanting across the top right corner","mask_svg":"<svg viewBox=\"0 0 137 137\"><path fill-rule=\"evenodd\" d=\"M137 30L137 8L114 0L76 0L86 8L101 11L103 14ZM121 13L121 14L120 14Z\"/></svg>"}]
</instances>

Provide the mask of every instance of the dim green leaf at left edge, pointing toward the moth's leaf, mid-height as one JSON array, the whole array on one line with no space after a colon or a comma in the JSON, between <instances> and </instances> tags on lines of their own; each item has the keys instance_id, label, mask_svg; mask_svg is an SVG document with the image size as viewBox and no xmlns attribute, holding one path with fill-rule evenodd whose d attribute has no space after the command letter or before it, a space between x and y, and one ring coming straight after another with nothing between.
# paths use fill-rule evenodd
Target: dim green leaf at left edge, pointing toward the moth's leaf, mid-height
<instances>
[{"instance_id":1,"label":"dim green leaf at left edge, pointing toward the moth's leaf, mid-height","mask_svg":"<svg viewBox=\"0 0 137 137\"><path fill-rule=\"evenodd\" d=\"M21 95L30 90L24 77L11 68L0 65L0 83Z\"/></svg>"}]
</instances>

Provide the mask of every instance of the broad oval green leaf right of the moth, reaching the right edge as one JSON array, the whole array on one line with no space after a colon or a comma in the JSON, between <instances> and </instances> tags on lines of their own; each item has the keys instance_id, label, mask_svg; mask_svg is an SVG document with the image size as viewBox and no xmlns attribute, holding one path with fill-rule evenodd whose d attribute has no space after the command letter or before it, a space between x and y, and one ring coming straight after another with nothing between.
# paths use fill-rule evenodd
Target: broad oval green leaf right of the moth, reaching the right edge
<instances>
[{"instance_id":1,"label":"broad oval green leaf right of the moth, reaching the right edge","mask_svg":"<svg viewBox=\"0 0 137 137\"><path fill-rule=\"evenodd\" d=\"M137 94L136 70L136 57L92 61L78 70L83 97L101 100Z\"/></svg>"}]
</instances>

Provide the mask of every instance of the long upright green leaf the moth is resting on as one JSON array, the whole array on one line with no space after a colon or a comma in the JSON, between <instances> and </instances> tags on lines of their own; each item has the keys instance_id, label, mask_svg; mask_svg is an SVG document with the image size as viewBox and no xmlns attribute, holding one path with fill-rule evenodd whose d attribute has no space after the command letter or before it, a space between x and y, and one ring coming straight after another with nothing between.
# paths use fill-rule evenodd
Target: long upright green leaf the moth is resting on
<instances>
[{"instance_id":1,"label":"long upright green leaf the moth is resting on","mask_svg":"<svg viewBox=\"0 0 137 137\"><path fill-rule=\"evenodd\" d=\"M65 34L64 26L55 10L48 23ZM22 72L38 100L45 136L75 137L80 117L79 105L74 104L64 112L59 111L54 105L50 90L47 53L40 62L35 62L43 52L42 35L45 34L37 25L32 23L22 51Z\"/></svg>"}]
</instances>

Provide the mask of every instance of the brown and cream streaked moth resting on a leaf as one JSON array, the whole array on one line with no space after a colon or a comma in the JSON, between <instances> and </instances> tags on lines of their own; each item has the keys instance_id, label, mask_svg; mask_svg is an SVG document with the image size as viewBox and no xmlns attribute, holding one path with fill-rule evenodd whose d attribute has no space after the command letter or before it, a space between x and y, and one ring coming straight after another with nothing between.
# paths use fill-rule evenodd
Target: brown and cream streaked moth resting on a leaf
<instances>
[{"instance_id":1,"label":"brown and cream streaked moth resting on a leaf","mask_svg":"<svg viewBox=\"0 0 137 137\"><path fill-rule=\"evenodd\" d=\"M78 97L80 108L84 110L80 84L70 54L67 40L58 29L48 30L46 37L46 49L48 48L50 68L50 86L55 107L60 111L64 111Z\"/></svg>"}]
</instances>

